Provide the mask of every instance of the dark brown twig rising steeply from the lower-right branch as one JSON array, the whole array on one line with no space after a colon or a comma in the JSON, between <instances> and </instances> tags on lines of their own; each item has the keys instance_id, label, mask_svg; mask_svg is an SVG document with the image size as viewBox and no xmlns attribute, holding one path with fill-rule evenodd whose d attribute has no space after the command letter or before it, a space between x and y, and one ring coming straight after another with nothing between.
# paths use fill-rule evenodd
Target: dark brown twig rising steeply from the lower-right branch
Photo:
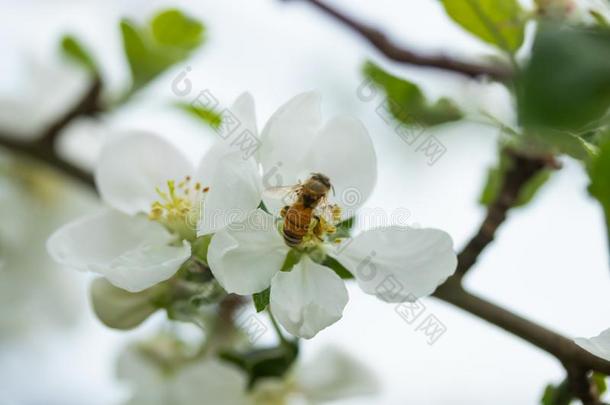
<instances>
[{"instance_id":1,"label":"dark brown twig rising steeply from the lower-right branch","mask_svg":"<svg viewBox=\"0 0 610 405\"><path fill-rule=\"evenodd\" d=\"M556 167L552 158L537 158L505 150L511 165L506 172L496 199L487 208L483 223L474 237L458 255L456 276L463 277L474 266L481 252L489 245L506 219L508 211L518 201L523 187L541 170Z\"/></svg>"}]
</instances>

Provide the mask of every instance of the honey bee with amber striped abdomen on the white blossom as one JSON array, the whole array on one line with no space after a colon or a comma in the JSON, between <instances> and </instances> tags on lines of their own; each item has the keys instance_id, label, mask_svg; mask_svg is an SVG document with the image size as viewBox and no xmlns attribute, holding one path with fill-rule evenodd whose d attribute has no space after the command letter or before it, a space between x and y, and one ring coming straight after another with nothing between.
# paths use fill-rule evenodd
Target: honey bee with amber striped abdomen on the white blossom
<instances>
[{"instance_id":1,"label":"honey bee with amber striped abdomen on the white blossom","mask_svg":"<svg viewBox=\"0 0 610 405\"><path fill-rule=\"evenodd\" d=\"M331 189L333 186L327 176L312 173L303 183L265 190L267 197L282 198L284 202L293 200L290 205L285 205L280 213L284 218L282 235L288 246L300 245L308 235L320 238L324 232L334 228L322 217L325 212L336 216L334 206L328 204L328 193Z\"/></svg>"}]
</instances>

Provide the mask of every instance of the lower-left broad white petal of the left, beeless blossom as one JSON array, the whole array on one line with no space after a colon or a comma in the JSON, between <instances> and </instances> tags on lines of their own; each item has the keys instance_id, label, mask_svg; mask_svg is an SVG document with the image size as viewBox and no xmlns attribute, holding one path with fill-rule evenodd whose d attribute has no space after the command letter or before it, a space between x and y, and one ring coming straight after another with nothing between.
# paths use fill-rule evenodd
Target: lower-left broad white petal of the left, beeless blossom
<instances>
[{"instance_id":1,"label":"lower-left broad white petal of the left, beeless blossom","mask_svg":"<svg viewBox=\"0 0 610 405\"><path fill-rule=\"evenodd\" d=\"M137 292L173 276L191 247L170 246L174 237L145 217L115 210L81 218L58 229L47 242L60 264L105 276L115 286Z\"/></svg>"}]
</instances>

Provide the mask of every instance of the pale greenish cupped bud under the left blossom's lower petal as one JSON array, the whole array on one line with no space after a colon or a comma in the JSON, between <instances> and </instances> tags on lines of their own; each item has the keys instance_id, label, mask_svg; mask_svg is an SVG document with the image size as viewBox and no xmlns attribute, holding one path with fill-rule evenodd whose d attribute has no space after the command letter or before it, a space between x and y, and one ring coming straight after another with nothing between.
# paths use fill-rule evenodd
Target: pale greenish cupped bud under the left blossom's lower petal
<instances>
[{"instance_id":1,"label":"pale greenish cupped bud under the left blossom's lower petal","mask_svg":"<svg viewBox=\"0 0 610 405\"><path fill-rule=\"evenodd\" d=\"M157 302L164 294L163 284L137 293L115 287L104 278L91 284L93 311L104 325L121 330L133 329L144 322L159 309Z\"/></svg>"}]
</instances>

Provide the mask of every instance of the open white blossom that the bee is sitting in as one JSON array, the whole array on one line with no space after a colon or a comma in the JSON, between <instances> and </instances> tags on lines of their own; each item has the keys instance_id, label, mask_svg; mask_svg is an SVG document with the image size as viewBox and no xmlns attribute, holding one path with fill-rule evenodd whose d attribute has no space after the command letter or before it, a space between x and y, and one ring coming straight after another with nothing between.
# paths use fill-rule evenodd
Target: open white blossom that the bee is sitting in
<instances>
[{"instance_id":1,"label":"open white blossom that the bee is sitting in","mask_svg":"<svg viewBox=\"0 0 610 405\"><path fill-rule=\"evenodd\" d=\"M328 198L335 220L341 209L343 218L347 211L353 215L373 190L376 157L366 129L343 116L322 125L315 93L299 95L281 107L261 140L265 186L294 185L321 173L334 188ZM451 237L441 230L391 226L337 244L334 224L320 218L313 219L320 226L310 226L296 247L301 253L298 263L291 271L280 271L291 248L281 235L281 205L269 199L265 204L276 215L259 209L216 233L208 262L230 293L248 295L270 287L273 314L295 336L312 338L339 320L347 304L343 280L323 264L327 256L341 263L366 293L388 302L431 294L455 271Z\"/></svg>"}]
</instances>

